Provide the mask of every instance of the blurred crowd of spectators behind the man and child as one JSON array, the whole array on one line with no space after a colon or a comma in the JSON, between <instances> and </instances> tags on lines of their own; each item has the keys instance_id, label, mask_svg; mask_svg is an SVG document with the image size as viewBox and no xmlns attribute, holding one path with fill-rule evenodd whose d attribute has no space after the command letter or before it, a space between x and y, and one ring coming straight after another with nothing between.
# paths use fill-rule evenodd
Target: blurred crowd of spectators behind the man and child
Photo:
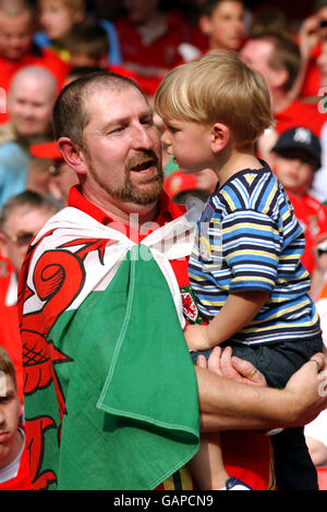
<instances>
[{"instance_id":1,"label":"blurred crowd of spectators behind the man and child","mask_svg":"<svg viewBox=\"0 0 327 512\"><path fill-rule=\"evenodd\" d=\"M53 143L55 99L70 81L97 70L135 80L150 105L169 70L210 50L235 51L263 74L275 123L257 154L278 174L303 224L303 263L327 340L327 0L302 2L301 19L290 19L282 2L249 3L0 0L0 345L14 361L22 403L16 257L21 265L32 236L76 184ZM159 121L158 130L165 130ZM185 175L165 147L162 154L173 200L205 199L217 185L210 169ZM325 466L327 441L315 432L312 456ZM0 484L1 468L0 450Z\"/></svg>"}]
</instances>

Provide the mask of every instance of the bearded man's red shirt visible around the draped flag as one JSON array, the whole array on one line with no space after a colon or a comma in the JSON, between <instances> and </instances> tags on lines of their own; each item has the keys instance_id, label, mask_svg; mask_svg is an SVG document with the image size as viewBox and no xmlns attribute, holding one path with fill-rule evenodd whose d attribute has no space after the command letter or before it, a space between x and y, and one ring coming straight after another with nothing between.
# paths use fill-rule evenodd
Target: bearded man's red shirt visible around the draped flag
<instances>
[{"instance_id":1,"label":"bearded man's red shirt visible around the draped flag","mask_svg":"<svg viewBox=\"0 0 327 512\"><path fill-rule=\"evenodd\" d=\"M108 225L111 219L98 207L89 203L83 197L78 191L78 186L71 188L69 197L69 206L81 209L89 215L98 222ZM166 222L180 217L184 212L184 208L173 204L164 192L159 198L159 214L154 221L153 227L164 225ZM114 223L116 229L120 229ZM153 230L147 230L146 234L141 235L138 231L130 229L122 224L122 230L131 240L141 242L143 237ZM187 260L171 261L175 278L180 287L190 284L187 275ZM269 438L256 431L229 431L222 432L223 460L227 472L230 475L245 481L255 490L267 490L274 486L272 458ZM183 478L181 478L182 480ZM170 480L161 484L158 490L171 489L170 485L183 485L182 481L175 484ZM174 487L178 489L178 487ZM183 487L181 487L183 488Z\"/></svg>"}]
</instances>

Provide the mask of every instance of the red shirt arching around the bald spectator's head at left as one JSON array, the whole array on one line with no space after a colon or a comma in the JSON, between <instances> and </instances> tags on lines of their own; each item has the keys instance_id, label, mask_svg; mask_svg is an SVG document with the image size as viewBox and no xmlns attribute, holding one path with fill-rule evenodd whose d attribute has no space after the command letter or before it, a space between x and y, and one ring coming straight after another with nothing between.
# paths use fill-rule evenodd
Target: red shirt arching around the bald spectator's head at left
<instances>
[{"instance_id":1,"label":"red shirt arching around the bald spectator's head at left","mask_svg":"<svg viewBox=\"0 0 327 512\"><path fill-rule=\"evenodd\" d=\"M0 56L0 124L9 120L7 112L7 95L13 75L26 65L41 65L49 70L58 83L58 93L61 90L69 65L56 53L48 49L34 49L19 61L10 61Z\"/></svg>"}]
</instances>

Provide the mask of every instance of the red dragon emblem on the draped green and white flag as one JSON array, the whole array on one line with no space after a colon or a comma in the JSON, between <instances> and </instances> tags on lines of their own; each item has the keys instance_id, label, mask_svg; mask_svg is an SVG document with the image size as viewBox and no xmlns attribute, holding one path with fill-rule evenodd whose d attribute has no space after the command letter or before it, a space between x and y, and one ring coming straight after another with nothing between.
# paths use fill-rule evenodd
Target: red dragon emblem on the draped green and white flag
<instances>
[{"instance_id":1,"label":"red dragon emblem on the draped green and white flag","mask_svg":"<svg viewBox=\"0 0 327 512\"><path fill-rule=\"evenodd\" d=\"M46 236L51 235L51 231ZM48 333L62 312L77 296L85 280L84 259L92 251L98 251L102 263L105 247L108 240L77 239L63 244L57 249L45 252L38 259L34 270L34 283L38 297L44 306L38 312L24 313L24 302L33 296L34 292L26 282L28 268L35 247L29 248L22 267L20 279L19 308L23 344L24 394L26 397L55 385L58 410L61 423L65 414L65 400L56 373L56 365L71 362L68 354L58 350ZM78 246L75 253L68 247ZM74 279L65 279L65 276L74 276ZM51 483L57 481L52 471L41 472L44 455L44 436L50 428L57 428L60 442L61 425L49 416L26 418L26 440L29 453L31 477L34 489L46 489Z\"/></svg>"}]
</instances>

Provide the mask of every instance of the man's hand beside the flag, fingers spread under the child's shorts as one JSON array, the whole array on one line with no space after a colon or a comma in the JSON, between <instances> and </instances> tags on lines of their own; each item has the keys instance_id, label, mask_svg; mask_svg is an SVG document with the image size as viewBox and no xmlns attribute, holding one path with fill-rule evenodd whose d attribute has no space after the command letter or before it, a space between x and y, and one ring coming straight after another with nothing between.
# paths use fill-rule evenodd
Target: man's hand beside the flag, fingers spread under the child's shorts
<instances>
[{"instance_id":1,"label":"man's hand beside the flag, fingers spread under the child's shorts","mask_svg":"<svg viewBox=\"0 0 327 512\"><path fill-rule=\"evenodd\" d=\"M208 362L203 355L199 355L197 366L208 368L217 375L237 380L238 382L267 386L263 374L261 374L252 363L233 356L230 346L227 346L223 351L220 346L216 346Z\"/></svg>"}]
</instances>

